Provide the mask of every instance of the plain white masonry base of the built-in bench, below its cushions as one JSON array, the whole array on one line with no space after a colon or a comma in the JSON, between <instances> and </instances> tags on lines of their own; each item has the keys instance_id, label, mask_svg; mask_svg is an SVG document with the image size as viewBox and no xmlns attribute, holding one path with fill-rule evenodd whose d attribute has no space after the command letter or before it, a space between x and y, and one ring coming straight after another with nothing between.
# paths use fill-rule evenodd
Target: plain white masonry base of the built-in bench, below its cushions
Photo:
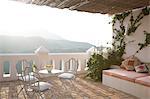
<instances>
[{"instance_id":1,"label":"plain white masonry base of the built-in bench, below its cushions","mask_svg":"<svg viewBox=\"0 0 150 99\"><path fill-rule=\"evenodd\" d=\"M150 97L150 88L141 84L136 84L134 82L122 80L120 78L108 76L105 74L103 74L102 81L102 83L106 86L110 86L117 90L134 95L139 99L149 99Z\"/></svg>"}]
</instances>

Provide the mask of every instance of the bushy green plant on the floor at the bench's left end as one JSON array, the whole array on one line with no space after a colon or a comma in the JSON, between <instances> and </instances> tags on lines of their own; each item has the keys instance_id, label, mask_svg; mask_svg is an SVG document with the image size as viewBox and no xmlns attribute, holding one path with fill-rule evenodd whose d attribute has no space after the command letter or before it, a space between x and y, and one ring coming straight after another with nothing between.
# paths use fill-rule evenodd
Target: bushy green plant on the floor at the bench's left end
<instances>
[{"instance_id":1,"label":"bushy green plant on the floor at the bench's left end","mask_svg":"<svg viewBox=\"0 0 150 99\"><path fill-rule=\"evenodd\" d=\"M90 57L87 67L87 76L95 81L99 81L102 79L102 70L109 67L109 62L102 55L95 53Z\"/></svg>"}]
</instances>

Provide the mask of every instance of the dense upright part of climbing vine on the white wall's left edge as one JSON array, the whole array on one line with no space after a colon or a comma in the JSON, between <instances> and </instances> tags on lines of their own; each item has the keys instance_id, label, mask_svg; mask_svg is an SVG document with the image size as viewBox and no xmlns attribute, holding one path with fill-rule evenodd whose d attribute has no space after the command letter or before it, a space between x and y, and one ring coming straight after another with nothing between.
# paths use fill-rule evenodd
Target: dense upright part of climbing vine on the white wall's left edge
<instances>
[{"instance_id":1,"label":"dense upright part of climbing vine on the white wall's left edge","mask_svg":"<svg viewBox=\"0 0 150 99\"><path fill-rule=\"evenodd\" d=\"M112 25L113 25L113 50L108 52L108 59L110 63L120 65L122 62L122 55L124 54L126 43L125 39L125 26L124 20L127 16L129 16L130 12L124 12L122 14L117 14L113 17ZM115 28L115 23L119 22L119 28Z\"/></svg>"}]
</instances>

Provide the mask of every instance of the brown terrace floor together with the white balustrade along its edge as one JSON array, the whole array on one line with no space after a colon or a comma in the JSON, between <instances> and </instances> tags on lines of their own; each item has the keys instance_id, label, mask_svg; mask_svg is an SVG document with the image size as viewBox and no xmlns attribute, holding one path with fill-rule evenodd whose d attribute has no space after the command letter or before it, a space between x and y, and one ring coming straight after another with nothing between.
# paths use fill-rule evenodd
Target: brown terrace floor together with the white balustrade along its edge
<instances>
[{"instance_id":1,"label":"brown terrace floor together with the white balustrade along its edge","mask_svg":"<svg viewBox=\"0 0 150 99\"><path fill-rule=\"evenodd\" d=\"M43 78L43 81L50 82L55 90L56 99L76 98L76 99L128 99L135 98L129 94L117 91L113 88L102 85L100 82L93 82L84 78L86 62L89 58L88 53L48 53L46 49L39 48L34 53L26 54L0 54L0 98L1 99L24 99L26 94L22 91L19 96L17 92L20 89L19 81L17 81L17 69L21 69L21 60L34 63L39 69L44 68L46 64L52 64L53 69L66 71L65 62L70 58L78 60L78 75L76 81L73 82L77 90L71 91L71 94L63 92L61 81L57 76ZM70 67L71 68L71 67ZM70 86L71 87L71 86ZM44 97L49 99L50 92L44 93ZM69 92L68 92L69 93ZM35 99L38 99L35 96Z\"/></svg>"}]
</instances>

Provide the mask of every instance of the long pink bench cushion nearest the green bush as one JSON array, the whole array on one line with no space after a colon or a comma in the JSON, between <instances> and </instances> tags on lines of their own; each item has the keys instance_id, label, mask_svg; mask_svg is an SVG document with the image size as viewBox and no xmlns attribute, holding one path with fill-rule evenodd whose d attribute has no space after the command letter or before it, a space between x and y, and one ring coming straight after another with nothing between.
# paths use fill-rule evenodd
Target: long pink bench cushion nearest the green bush
<instances>
[{"instance_id":1,"label":"long pink bench cushion nearest the green bush","mask_svg":"<svg viewBox=\"0 0 150 99\"><path fill-rule=\"evenodd\" d=\"M127 71L124 69L103 70L103 74L114 76L131 82L135 82L136 78L148 76L147 73L136 73L135 71Z\"/></svg>"}]
</instances>

